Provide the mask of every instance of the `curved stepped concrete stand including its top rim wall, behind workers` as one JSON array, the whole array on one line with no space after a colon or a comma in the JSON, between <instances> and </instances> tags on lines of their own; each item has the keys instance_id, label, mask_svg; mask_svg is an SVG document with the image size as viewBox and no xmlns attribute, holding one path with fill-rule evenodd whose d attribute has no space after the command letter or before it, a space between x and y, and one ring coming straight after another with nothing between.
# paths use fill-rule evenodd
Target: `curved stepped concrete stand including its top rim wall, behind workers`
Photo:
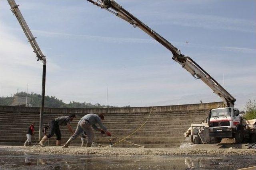
<instances>
[{"instance_id":1,"label":"curved stepped concrete stand including its top rim wall, behind workers","mask_svg":"<svg viewBox=\"0 0 256 170\"><path fill-rule=\"evenodd\" d=\"M118 107L118 108L45 108L44 124L47 125L52 119L70 113L76 114L72 121L73 129L81 117L88 113L104 113L102 123L112 135L126 138L127 141L148 148L178 148L184 142L184 132L191 123L201 123L208 114L209 109L217 108L222 102L206 104L188 104L174 106L152 107ZM152 113L150 113L152 109ZM0 106L0 145L23 145L26 141L26 131L31 122L35 122L35 134L38 139L39 130L39 107L14 107ZM145 123L145 121L147 123ZM143 125L143 127L142 127ZM140 128L141 127L141 128ZM60 127L62 144L70 137L66 127ZM94 142L101 145L109 145L109 137L94 131ZM55 135L50 138L49 146L55 145ZM118 139L112 138L112 143ZM35 141L32 139L32 143ZM78 137L72 142L72 146L80 146L81 139ZM130 143L120 142L114 147L135 147Z\"/></svg>"}]
</instances>

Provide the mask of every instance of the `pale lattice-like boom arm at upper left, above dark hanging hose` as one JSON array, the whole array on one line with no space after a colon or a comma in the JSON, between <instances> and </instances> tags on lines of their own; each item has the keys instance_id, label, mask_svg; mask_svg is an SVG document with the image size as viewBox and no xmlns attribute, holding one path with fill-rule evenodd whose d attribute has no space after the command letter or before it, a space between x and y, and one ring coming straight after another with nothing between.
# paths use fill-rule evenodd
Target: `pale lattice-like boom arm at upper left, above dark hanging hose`
<instances>
[{"instance_id":1,"label":"pale lattice-like boom arm at upper left, above dark hanging hose","mask_svg":"<svg viewBox=\"0 0 256 170\"><path fill-rule=\"evenodd\" d=\"M36 57L38 60L41 60L43 63L46 63L46 57L43 55L42 51L40 50L38 43L36 42L36 37L33 36L32 32L30 31L25 19L23 18L16 2L14 0L8 0L8 3L11 6L11 10L13 14L16 16L20 26L22 27L26 37L28 38L28 42L32 46L34 53L36 53Z\"/></svg>"}]
</instances>

